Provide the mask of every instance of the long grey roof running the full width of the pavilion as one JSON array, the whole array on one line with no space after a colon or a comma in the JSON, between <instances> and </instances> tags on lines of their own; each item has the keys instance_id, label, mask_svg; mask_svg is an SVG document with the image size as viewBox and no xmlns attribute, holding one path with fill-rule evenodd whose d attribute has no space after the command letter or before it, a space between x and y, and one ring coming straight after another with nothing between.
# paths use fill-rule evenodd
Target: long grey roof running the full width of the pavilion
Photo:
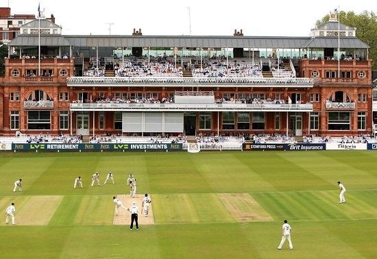
<instances>
[{"instance_id":1,"label":"long grey roof running the full width of the pavilion","mask_svg":"<svg viewBox=\"0 0 377 259\"><path fill-rule=\"evenodd\" d=\"M43 46L74 47L229 47L301 49L336 48L338 38L329 37L271 37L271 36L81 36L41 35ZM344 48L367 49L369 46L356 37L340 39ZM38 35L19 35L8 46L38 46Z\"/></svg>"}]
</instances>

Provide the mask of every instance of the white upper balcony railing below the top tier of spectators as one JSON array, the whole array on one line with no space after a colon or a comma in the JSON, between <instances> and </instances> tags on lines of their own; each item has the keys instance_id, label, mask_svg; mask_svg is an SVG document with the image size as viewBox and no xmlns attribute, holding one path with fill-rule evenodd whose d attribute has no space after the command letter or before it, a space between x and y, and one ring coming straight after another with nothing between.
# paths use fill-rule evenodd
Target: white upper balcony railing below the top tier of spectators
<instances>
[{"instance_id":1,"label":"white upper balcony railing below the top tier of spectators","mask_svg":"<svg viewBox=\"0 0 377 259\"><path fill-rule=\"evenodd\" d=\"M260 77L69 77L68 86L284 86L313 87L311 78Z\"/></svg>"}]
</instances>

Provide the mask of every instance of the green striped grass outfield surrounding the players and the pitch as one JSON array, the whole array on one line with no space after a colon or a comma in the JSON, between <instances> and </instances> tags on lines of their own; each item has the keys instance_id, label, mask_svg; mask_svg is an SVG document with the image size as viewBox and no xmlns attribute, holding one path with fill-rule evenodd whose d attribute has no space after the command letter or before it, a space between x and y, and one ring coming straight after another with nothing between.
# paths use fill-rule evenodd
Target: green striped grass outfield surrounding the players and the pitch
<instances>
[{"instance_id":1,"label":"green striped grass outfield surrounding the players and the pitch","mask_svg":"<svg viewBox=\"0 0 377 259\"><path fill-rule=\"evenodd\" d=\"M377 258L376 169L375 151L0 153L0 258ZM153 201L138 231L112 225L129 173Z\"/></svg>"}]
</instances>

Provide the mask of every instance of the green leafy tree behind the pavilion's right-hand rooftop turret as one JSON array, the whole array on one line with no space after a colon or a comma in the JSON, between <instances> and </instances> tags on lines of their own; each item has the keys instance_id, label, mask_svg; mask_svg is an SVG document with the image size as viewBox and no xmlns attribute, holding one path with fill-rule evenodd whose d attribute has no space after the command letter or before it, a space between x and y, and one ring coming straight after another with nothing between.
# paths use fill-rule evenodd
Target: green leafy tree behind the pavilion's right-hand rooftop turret
<instances>
[{"instance_id":1,"label":"green leafy tree behind the pavilion's right-hand rooftop turret","mask_svg":"<svg viewBox=\"0 0 377 259\"><path fill-rule=\"evenodd\" d=\"M321 20L318 20L316 25L320 26L328 22L329 15L327 14ZM340 22L356 27L356 37L370 46L369 59L373 60L373 69L377 69L377 16L374 12L364 11L361 14L354 12L340 12Z\"/></svg>"}]
</instances>

